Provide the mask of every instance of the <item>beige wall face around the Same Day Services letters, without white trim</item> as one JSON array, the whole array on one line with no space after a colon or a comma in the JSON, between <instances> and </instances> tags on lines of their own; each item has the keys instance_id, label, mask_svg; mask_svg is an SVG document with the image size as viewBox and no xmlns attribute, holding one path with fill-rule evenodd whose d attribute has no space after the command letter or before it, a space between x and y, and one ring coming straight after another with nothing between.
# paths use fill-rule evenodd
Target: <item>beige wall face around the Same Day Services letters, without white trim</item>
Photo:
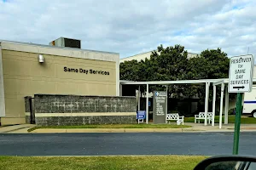
<instances>
[{"instance_id":1,"label":"beige wall face around the Same Day Services letters, without white trim","mask_svg":"<svg viewBox=\"0 0 256 170\"><path fill-rule=\"evenodd\" d=\"M6 117L2 124L25 123L25 96L33 94L115 95L116 64L93 59L76 59L3 50L3 83ZM96 54L101 55L101 54ZM110 75L67 72L64 67L109 71ZM20 117L20 118L19 118Z\"/></svg>"}]
</instances>

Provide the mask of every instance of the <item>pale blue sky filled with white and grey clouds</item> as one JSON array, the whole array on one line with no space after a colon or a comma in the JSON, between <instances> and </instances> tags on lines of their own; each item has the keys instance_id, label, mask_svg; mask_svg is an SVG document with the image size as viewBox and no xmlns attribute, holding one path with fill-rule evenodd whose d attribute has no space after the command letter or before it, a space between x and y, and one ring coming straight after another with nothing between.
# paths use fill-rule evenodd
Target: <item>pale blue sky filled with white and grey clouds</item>
<instances>
[{"instance_id":1,"label":"pale blue sky filled with white and grey clouds","mask_svg":"<svg viewBox=\"0 0 256 170\"><path fill-rule=\"evenodd\" d=\"M70 37L120 58L160 44L255 55L255 9L255 0L0 0L0 39L49 44Z\"/></svg>"}]
</instances>

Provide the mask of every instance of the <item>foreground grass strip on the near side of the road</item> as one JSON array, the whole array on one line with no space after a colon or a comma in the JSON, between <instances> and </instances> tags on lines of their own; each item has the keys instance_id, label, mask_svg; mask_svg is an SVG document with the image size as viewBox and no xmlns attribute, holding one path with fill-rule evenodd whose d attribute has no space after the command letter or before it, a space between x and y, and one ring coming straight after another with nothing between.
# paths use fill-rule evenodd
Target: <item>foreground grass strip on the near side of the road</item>
<instances>
[{"instance_id":1,"label":"foreground grass strip on the near side of the road","mask_svg":"<svg viewBox=\"0 0 256 170\"><path fill-rule=\"evenodd\" d=\"M192 170L205 158L207 156L0 156L0 169Z\"/></svg>"}]
</instances>

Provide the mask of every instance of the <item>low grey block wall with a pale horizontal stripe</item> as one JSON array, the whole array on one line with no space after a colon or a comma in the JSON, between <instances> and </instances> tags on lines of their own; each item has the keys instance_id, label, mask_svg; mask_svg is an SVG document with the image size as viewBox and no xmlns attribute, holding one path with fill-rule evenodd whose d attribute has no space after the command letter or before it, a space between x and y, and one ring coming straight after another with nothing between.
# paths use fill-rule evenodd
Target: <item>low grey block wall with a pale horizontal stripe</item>
<instances>
[{"instance_id":1,"label":"low grey block wall with a pale horizontal stripe","mask_svg":"<svg viewBox=\"0 0 256 170\"><path fill-rule=\"evenodd\" d=\"M137 99L118 96L35 94L39 126L136 123Z\"/></svg>"}]
</instances>

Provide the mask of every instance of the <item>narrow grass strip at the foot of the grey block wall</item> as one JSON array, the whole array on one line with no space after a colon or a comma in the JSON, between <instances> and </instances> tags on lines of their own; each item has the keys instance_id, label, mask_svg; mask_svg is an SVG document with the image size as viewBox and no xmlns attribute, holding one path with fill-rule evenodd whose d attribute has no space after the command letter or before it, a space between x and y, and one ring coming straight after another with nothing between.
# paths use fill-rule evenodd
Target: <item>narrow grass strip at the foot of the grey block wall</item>
<instances>
[{"instance_id":1,"label":"narrow grass strip at the foot of the grey block wall","mask_svg":"<svg viewBox=\"0 0 256 170\"><path fill-rule=\"evenodd\" d=\"M101 125L79 125L79 126L49 126L49 127L32 127L28 129L31 132L38 128L184 128L191 127L189 125L176 124L101 124Z\"/></svg>"}]
</instances>

